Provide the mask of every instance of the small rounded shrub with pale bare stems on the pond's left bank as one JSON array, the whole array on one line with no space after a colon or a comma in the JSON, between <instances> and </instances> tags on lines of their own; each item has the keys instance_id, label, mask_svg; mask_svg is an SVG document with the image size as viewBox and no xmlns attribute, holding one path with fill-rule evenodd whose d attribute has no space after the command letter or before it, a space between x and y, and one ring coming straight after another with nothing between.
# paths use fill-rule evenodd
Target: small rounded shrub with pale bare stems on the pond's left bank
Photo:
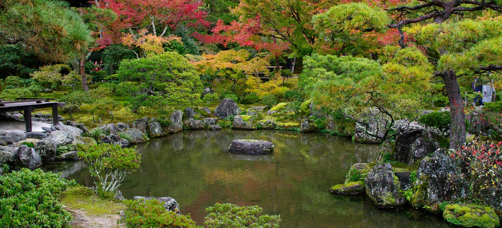
<instances>
[{"instance_id":1,"label":"small rounded shrub with pale bare stems on the pond's left bank","mask_svg":"<svg viewBox=\"0 0 502 228\"><path fill-rule=\"evenodd\" d=\"M89 166L94 184L103 192L114 192L126 174L140 167L141 154L134 148L121 148L120 145L108 143L78 144L77 151L78 156Z\"/></svg>"}]
</instances>

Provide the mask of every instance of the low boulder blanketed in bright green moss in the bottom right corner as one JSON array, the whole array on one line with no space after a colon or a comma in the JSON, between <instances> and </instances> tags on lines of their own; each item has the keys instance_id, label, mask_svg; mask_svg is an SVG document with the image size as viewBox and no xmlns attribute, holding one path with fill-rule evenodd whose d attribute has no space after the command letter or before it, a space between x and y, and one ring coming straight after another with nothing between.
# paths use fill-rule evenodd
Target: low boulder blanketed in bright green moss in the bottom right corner
<instances>
[{"instance_id":1,"label":"low boulder blanketed in bright green moss in the bottom right corner","mask_svg":"<svg viewBox=\"0 0 502 228\"><path fill-rule=\"evenodd\" d=\"M493 228L500 225L498 216L489 206L448 204L443 211L446 221L464 227Z\"/></svg>"}]
</instances>

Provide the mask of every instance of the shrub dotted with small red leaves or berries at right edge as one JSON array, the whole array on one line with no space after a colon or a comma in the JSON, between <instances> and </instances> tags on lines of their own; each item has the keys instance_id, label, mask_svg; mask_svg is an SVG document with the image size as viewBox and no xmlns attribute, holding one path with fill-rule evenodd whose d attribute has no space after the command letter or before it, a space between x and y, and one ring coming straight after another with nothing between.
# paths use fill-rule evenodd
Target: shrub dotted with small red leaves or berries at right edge
<instances>
[{"instance_id":1,"label":"shrub dotted with small red leaves or berries at right edge","mask_svg":"<svg viewBox=\"0 0 502 228\"><path fill-rule=\"evenodd\" d=\"M472 183L476 193L502 189L502 142L490 144L475 142L462 146L450 156L460 162L464 169L464 177Z\"/></svg>"}]
</instances>

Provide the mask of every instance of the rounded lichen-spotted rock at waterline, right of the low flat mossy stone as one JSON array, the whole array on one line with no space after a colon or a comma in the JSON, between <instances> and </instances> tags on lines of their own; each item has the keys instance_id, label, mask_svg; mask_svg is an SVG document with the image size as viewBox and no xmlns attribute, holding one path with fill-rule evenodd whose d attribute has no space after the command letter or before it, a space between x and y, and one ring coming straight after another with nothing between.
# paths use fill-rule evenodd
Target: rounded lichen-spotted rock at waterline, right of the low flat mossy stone
<instances>
[{"instance_id":1,"label":"rounded lichen-spotted rock at waterline, right of the low flat mossy stone","mask_svg":"<svg viewBox=\"0 0 502 228\"><path fill-rule=\"evenodd\" d=\"M405 203L401 183L390 163L376 164L364 178L367 196L378 207L396 207Z\"/></svg>"}]
</instances>

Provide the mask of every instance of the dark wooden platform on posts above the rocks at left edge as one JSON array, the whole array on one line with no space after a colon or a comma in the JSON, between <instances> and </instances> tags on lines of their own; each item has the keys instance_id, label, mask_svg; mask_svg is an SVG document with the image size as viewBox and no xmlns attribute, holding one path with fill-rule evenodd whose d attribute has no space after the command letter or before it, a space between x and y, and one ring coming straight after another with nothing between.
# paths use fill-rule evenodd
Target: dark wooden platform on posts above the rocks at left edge
<instances>
[{"instance_id":1,"label":"dark wooden platform on posts above the rocks at left edge","mask_svg":"<svg viewBox=\"0 0 502 228\"><path fill-rule=\"evenodd\" d=\"M32 110L52 108L52 124L59 125L58 107L64 107L64 103L51 101L54 98L18 98L19 101L0 100L0 112L24 111L26 131L32 131Z\"/></svg>"}]
</instances>

